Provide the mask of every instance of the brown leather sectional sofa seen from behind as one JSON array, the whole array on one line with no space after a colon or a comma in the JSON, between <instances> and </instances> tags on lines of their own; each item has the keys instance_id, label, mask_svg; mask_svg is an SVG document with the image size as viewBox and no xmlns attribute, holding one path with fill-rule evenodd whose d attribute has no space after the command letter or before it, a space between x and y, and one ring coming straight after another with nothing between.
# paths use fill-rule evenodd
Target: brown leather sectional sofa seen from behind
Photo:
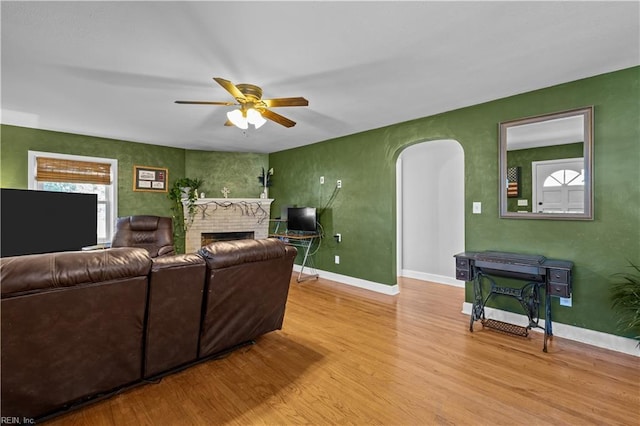
<instances>
[{"instance_id":1,"label":"brown leather sectional sofa seen from behind","mask_svg":"<svg viewBox=\"0 0 640 426\"><path fill-rule=\"evenodd\" d=\"M0 259L2 417L48 418L280 329L295 254L267 239Z\"/></svg>"}]
</instances>

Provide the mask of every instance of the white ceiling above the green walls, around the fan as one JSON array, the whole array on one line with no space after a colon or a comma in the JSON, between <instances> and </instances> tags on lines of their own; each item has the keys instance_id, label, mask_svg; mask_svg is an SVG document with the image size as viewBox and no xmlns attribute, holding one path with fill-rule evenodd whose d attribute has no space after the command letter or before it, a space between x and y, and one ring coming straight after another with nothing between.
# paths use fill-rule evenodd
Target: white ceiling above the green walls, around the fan
<instances>
[{"instance_id":1,"label":"white ceiling above the green walls, around the fan","mask_svg":"<svg viewBox=\"0 0 640 426\"><path fill-rule=\"evenodd\" d=\"M2 1L2 123L275 152L640 64L631 2ZM213 77L298 124L225 127Z\"/></svg>"}]
</instances>

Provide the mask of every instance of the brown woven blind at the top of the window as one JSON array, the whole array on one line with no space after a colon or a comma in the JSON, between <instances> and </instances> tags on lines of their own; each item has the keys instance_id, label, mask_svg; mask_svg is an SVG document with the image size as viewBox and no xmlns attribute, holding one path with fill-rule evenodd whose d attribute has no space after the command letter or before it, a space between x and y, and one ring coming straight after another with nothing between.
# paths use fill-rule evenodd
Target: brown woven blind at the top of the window
<instances>
[{"instance_id":1,"label":"brown woven blind at the top of the window","mask_svg":"<svg viewBox=\"0 0 640 426\"><path fill-rule=\"evenodd\" d=\"M37 157L36 179L46 182L111 184L111 164Z\"/></svg>"}]
</instances>

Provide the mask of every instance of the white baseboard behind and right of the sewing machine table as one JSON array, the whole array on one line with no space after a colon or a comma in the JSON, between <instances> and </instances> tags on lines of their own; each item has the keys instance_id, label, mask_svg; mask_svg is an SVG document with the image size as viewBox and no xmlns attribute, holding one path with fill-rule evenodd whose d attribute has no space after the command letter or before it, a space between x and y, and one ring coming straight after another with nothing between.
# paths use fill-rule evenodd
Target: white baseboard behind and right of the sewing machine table
<instances>
[{"instance_id":1,"label":"white baseboard behind and right of the sewing machine table","mask_svg":"<svg viewBox=\"0 0 640 426\"><path fill-rule=\"evenodd\" d=\"M464 302L462 304L462 313L471 315L470 302ZM498 321L504 321L511 324L528 324L529 319L526 315L516 314L513 312L503 311L501 309L484 308L487 318L491 318ZM544 327L544 320L540 320L540 326ZM532 329L537 332L541 332L541 329ZM572 325L562 324L559 322L553 323L553 335L562 337L564 339L574 340L576 342L586 343L588 345L597 346L599 348L610 349L616 352L622 352L629 355L640 357L640 349L638 348L638 341L629 339L627 337L615 336L613 334L602 333L600 331L589 330L586 328L575 327Z\"/></svg>"}]
</instances>

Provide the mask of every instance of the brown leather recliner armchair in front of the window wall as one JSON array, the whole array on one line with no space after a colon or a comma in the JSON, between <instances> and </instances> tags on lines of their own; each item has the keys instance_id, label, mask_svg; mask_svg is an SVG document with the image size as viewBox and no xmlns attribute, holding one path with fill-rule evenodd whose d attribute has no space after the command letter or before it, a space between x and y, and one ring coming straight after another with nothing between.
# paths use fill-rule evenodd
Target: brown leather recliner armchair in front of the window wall
<instances>
[{"instance_id":1,"label":"brown leather recliner armchair in front of the window wall","mask_svg":"<svg viewBox=\"0 0 640 426\"><path fill-rule=\"evenodd\" d=\"M111 247L144 248L151 257L173 255L173 220L161 216L119 217Z\"/></svg>"}]
</instances>

